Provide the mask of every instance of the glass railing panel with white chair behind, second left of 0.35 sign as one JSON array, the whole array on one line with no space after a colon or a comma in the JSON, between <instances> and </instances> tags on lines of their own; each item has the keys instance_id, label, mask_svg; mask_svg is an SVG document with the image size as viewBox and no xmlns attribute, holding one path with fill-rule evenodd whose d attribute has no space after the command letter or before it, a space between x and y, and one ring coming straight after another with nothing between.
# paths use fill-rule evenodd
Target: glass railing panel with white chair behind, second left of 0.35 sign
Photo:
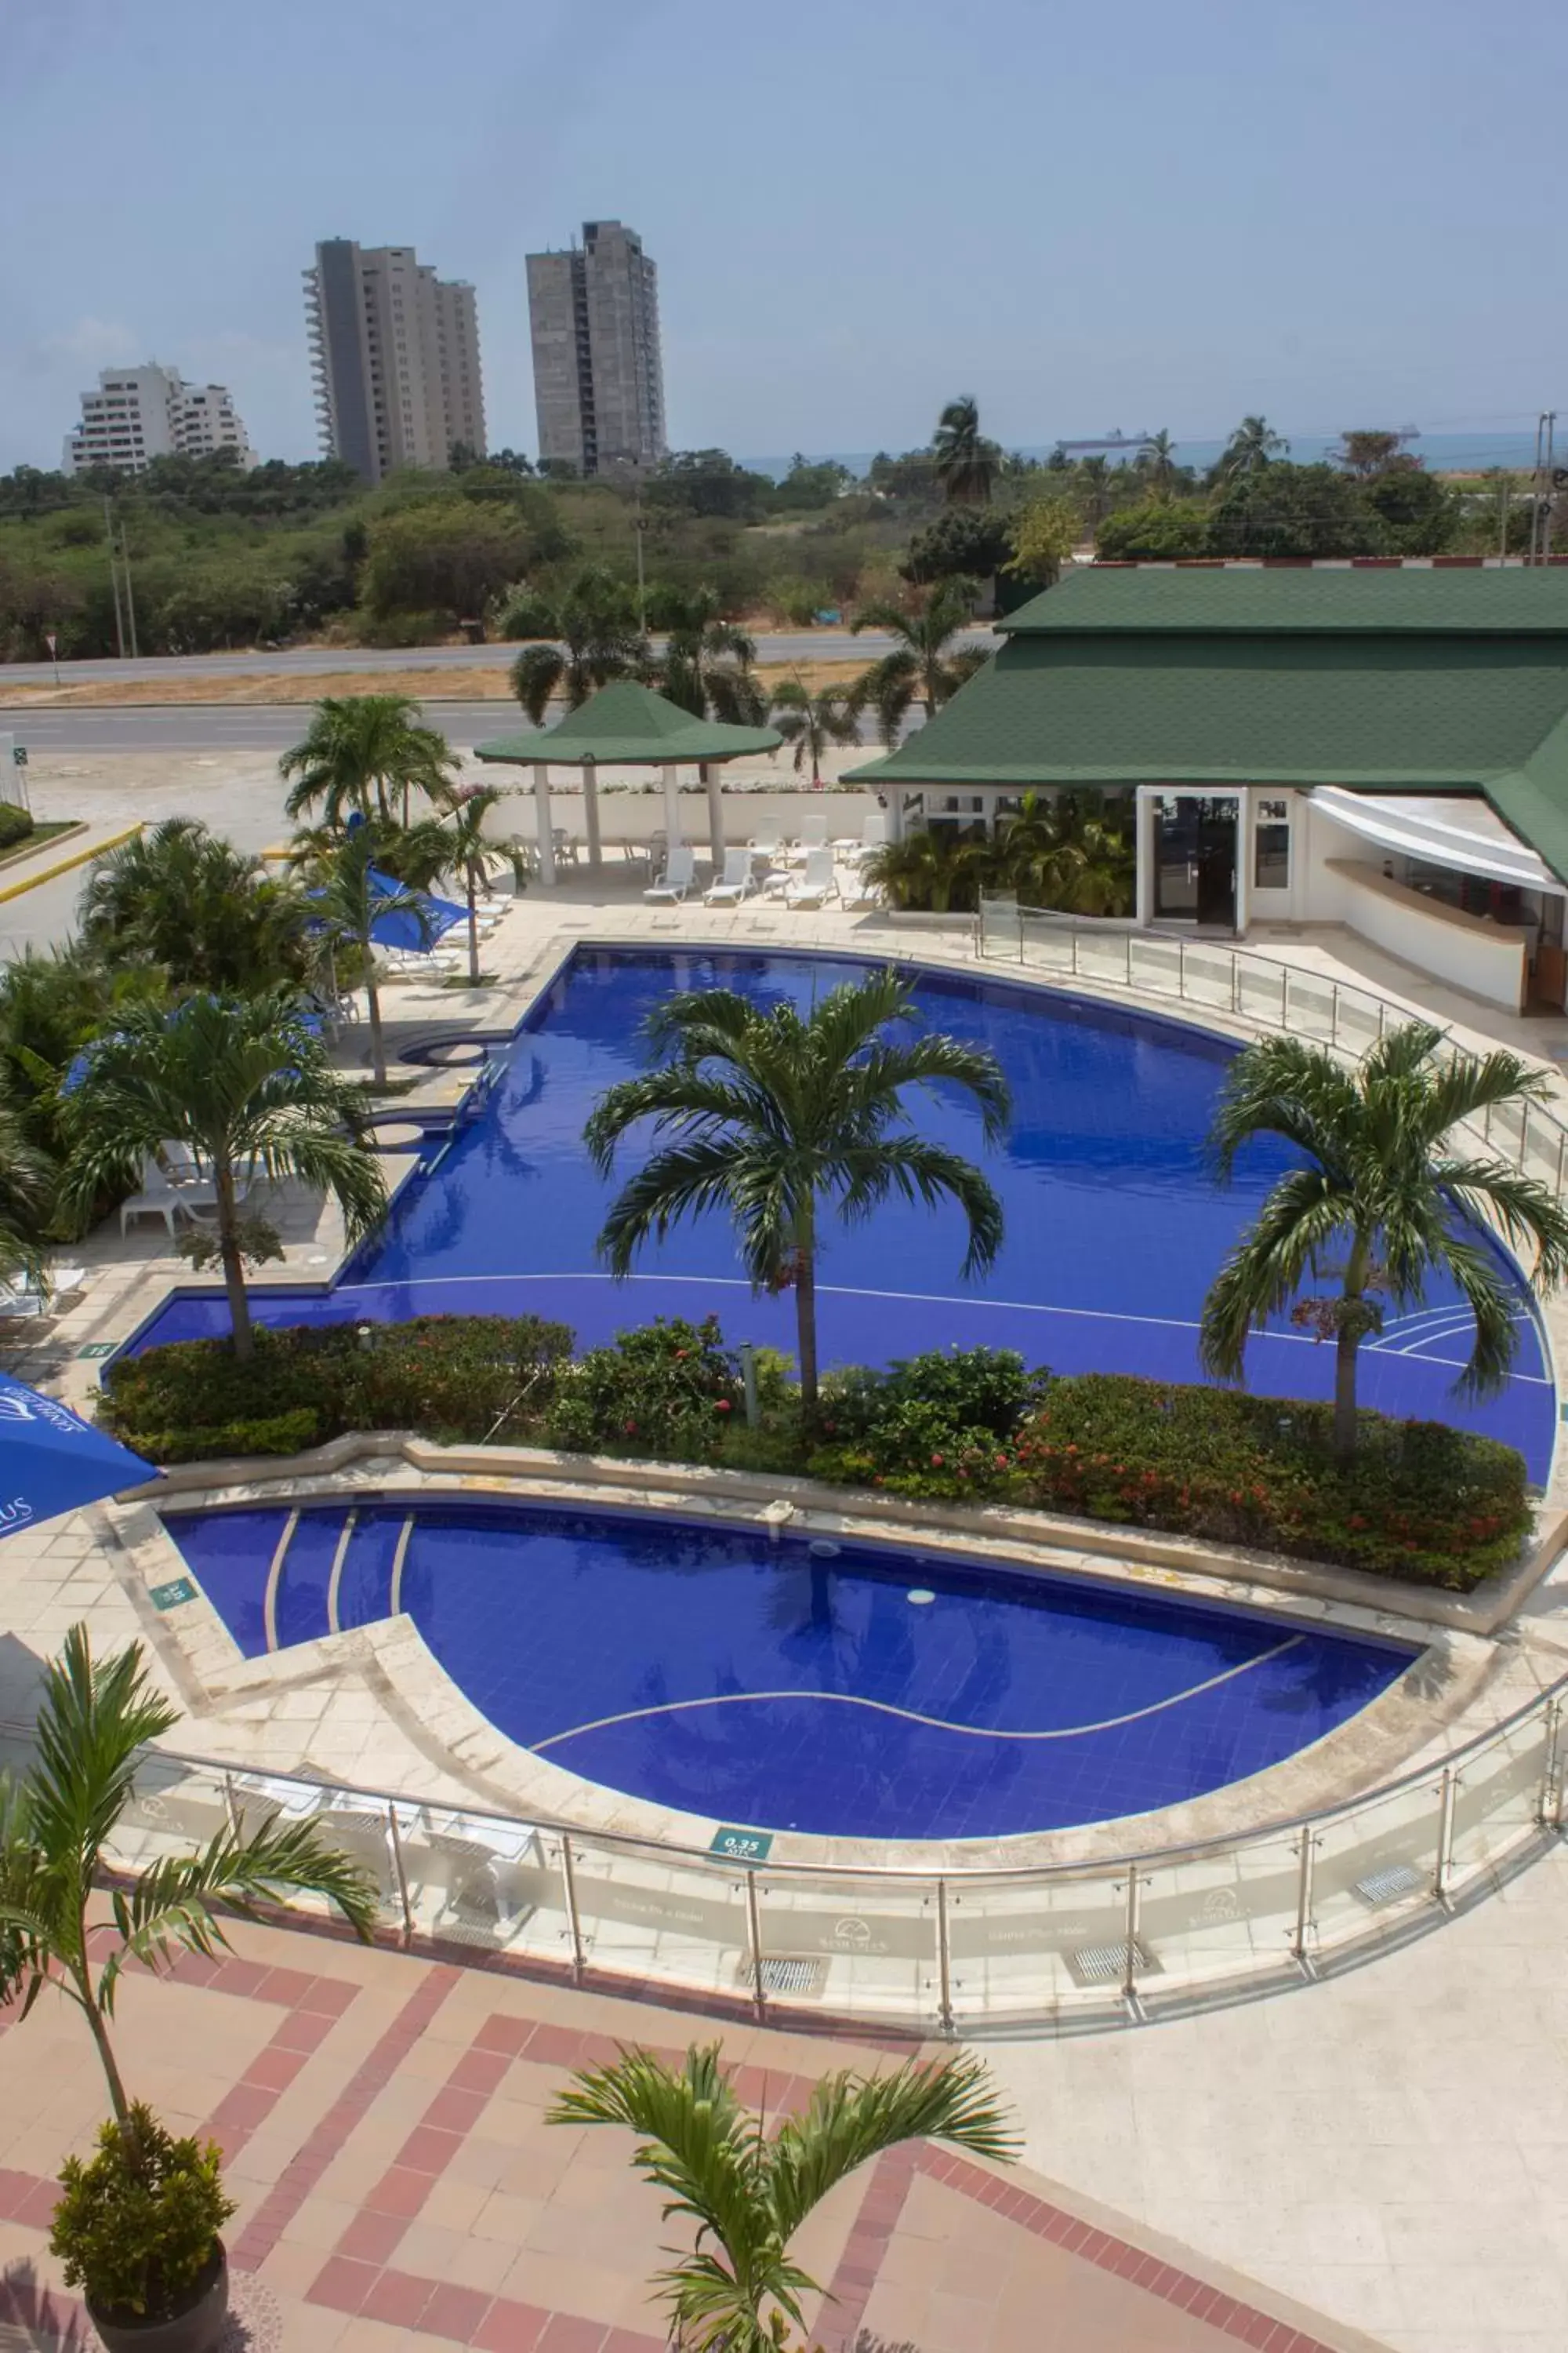
<instances>
[{"instance_id":1,"label":"glass railing panel with white chair behind, second left of 0.35 sign","mask_svg":"<svg viewBox=\"0 0 1568 2353\"><path fill-rule=\"evenodd\" d=\"M402 1828L402 1868L423 1937L571 1960L562 1842L552 1833L428 1805Z\"/></svg>"}]
</instances>

